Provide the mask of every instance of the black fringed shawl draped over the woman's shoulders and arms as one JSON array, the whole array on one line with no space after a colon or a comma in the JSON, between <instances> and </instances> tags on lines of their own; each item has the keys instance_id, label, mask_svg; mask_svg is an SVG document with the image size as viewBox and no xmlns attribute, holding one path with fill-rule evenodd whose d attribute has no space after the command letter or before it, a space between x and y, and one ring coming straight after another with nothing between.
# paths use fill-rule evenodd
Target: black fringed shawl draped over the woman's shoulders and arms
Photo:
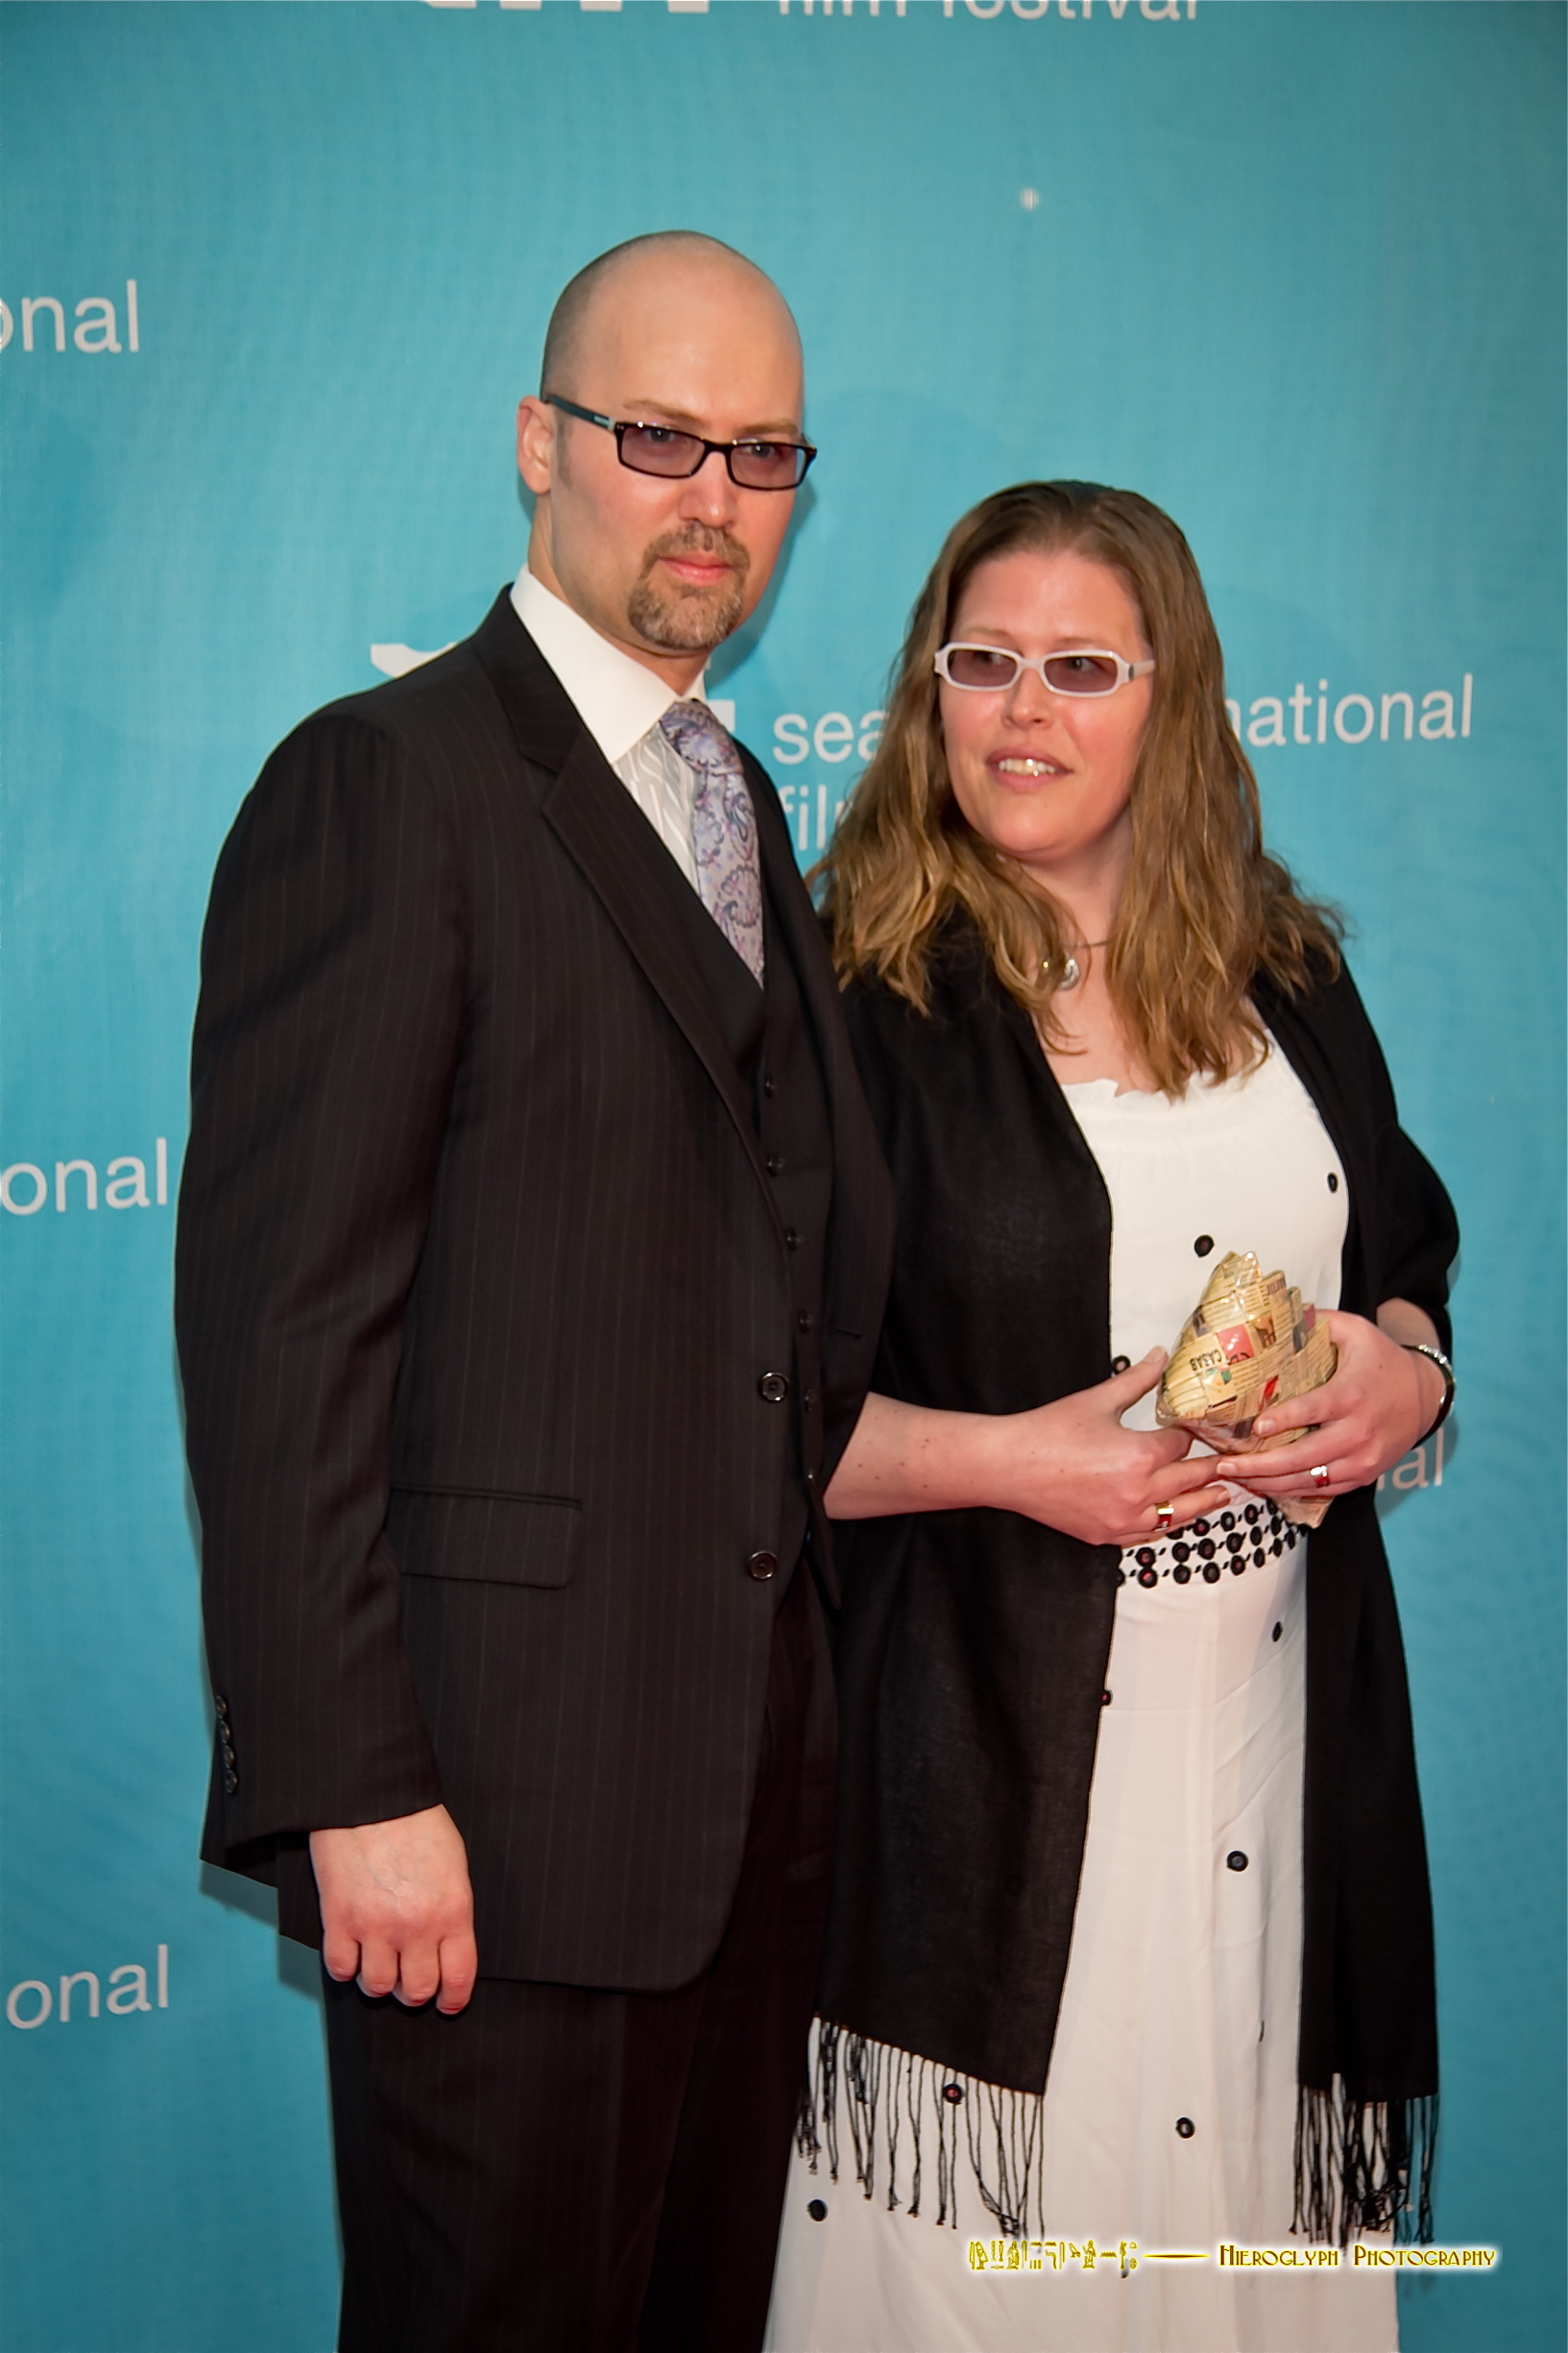
<instances>
[{"instance_id":1,"label":"black fringed shawl draped over the woman's shoulders and arms","mask_svg":"<svg viewBox=\"0 0 1568 2353\"><path fill-rule=\"evenodd\" d=\"M1410 1299L1446 1341L1453 1209L1399 1127L1349 974L1305 1000L1258 979L1253 1002L1345 1167L1340 1304L1373 1315ZM853 986L846 1012L898 1191L872 1388L1011 1414L1107 1379L1105 1184L973 929L945 934L929 1016L882 986ZM825 2035L818 2089L844 2064L853 2094L867 2045L884 2042L1037 2099L1067 1969L1117 1548L1004 1511L842 1522L837 1544L842 1814L820 2012L839 2033ZM1425 2228L1434 2009L1403 1649L1361 1489L1333 1504L1307 1567L1298 2226L1312 2235L1410 2212ZM858 2137L865 2125L860 2113ZM973 2118L969 2129L973 2148ZM994 2202L1004 2221L1020 2212L1016 2193Z\"/></svg>"}]
</instances>

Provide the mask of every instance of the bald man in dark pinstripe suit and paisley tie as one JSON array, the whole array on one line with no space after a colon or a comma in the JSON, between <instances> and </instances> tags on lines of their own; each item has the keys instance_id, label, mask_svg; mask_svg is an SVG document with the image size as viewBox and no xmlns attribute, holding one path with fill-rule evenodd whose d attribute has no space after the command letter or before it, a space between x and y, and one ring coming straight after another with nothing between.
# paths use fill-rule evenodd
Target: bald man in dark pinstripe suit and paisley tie
<instances>
[{"instance_id":1,"label":"bald man in dark pinstripe suit and paisley tie","mask_svg":"<svg viewBox=\"0 0 1568 2353\"><path fill-rule=\"evenodd\" d=\"M762 2339L832 1838L820 1494L891 1200L701 694L809 461L759 271L590 264L520 409L517 586L289 736L214 880L205 1852L322 1944L353 2353Z\"/></svg>"}]
</instances>

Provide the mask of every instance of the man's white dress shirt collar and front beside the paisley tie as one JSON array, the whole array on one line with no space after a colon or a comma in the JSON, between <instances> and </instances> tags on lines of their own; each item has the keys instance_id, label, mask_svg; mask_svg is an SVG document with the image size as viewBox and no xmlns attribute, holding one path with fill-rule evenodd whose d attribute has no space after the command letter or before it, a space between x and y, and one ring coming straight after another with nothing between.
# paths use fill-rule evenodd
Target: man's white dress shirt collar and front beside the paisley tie
<instances>
[{"instance_id":1,"label":"man's white dress shirt collar and front beside the paisley tie","mask_svg":"<svg viewBox=\"0 0 1568 2353\"><path fill-rule=\"evenodd\" d=\"M527 565L512 584L512 607L576 704L588 734L696 889L696 852L691 847L696 776L658 722L670 704L708 701L703 692L708 673L686 694L675 694L656 671L632 661L618 645L602 638Z\"/></svg>"}]
</instances>

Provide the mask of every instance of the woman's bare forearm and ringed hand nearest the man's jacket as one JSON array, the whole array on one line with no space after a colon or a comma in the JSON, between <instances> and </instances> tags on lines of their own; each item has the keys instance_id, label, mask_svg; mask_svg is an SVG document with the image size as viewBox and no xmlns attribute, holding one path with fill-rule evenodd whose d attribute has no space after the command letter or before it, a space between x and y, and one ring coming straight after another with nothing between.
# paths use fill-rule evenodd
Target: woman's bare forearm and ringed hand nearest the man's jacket
<instances>
[{"instance_id":1,"label":"woman's bare forearm and ringed hand nearest the man's jacket","mask_svg":"<svg viewBox=\"0 0 1568 2353\"><path fill-rule=\"evenodd\" d=\"M825 1504L835 1520L893 1511L1016 1511L1084 1544L1147 1544L1220 1511L1213 1457L1185 1431L1124 1431L1166 1365L1140 1365L1025 1414L945 1414L870 1395ZM1159 1513L1157 1506L1166 1506Z\"/></svg>"}]
</instances>

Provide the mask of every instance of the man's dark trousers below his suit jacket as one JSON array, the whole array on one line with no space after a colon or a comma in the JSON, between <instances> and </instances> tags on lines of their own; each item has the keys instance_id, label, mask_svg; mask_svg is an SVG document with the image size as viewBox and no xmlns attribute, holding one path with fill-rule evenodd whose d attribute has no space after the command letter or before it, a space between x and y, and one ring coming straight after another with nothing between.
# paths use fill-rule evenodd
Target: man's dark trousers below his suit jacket
<instances>
[{"instance_id":1,"label":"man's dark trousers below his suit jacket","mask_svg":"<svg viewBox=\"0 0 1568 2353\"><path fill-rule=\"evenodd\" d=\"M341 2353L755 2353L832 1868L806 1565L710 1967L675 1993L482 1977L456 2019L327 1981Z\"/></svg>"}]
</instances>

